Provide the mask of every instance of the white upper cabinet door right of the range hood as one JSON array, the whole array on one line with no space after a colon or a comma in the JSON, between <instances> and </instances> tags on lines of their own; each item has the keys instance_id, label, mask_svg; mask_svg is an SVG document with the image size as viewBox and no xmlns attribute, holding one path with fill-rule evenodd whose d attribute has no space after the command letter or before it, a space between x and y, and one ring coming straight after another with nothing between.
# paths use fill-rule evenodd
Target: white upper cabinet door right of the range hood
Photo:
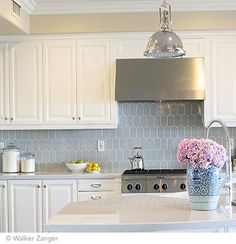
<instances>
[{"instance_id":1,"label":"white upper cabinet door right of the range hood","mask_svg":"<svg viewBox=\"0 0 236 244\"><path fill-rule=\"evenodd\" d=\"M212 38L210 117L236 126L236 37Z\"/></svg>"}]
</instances>

